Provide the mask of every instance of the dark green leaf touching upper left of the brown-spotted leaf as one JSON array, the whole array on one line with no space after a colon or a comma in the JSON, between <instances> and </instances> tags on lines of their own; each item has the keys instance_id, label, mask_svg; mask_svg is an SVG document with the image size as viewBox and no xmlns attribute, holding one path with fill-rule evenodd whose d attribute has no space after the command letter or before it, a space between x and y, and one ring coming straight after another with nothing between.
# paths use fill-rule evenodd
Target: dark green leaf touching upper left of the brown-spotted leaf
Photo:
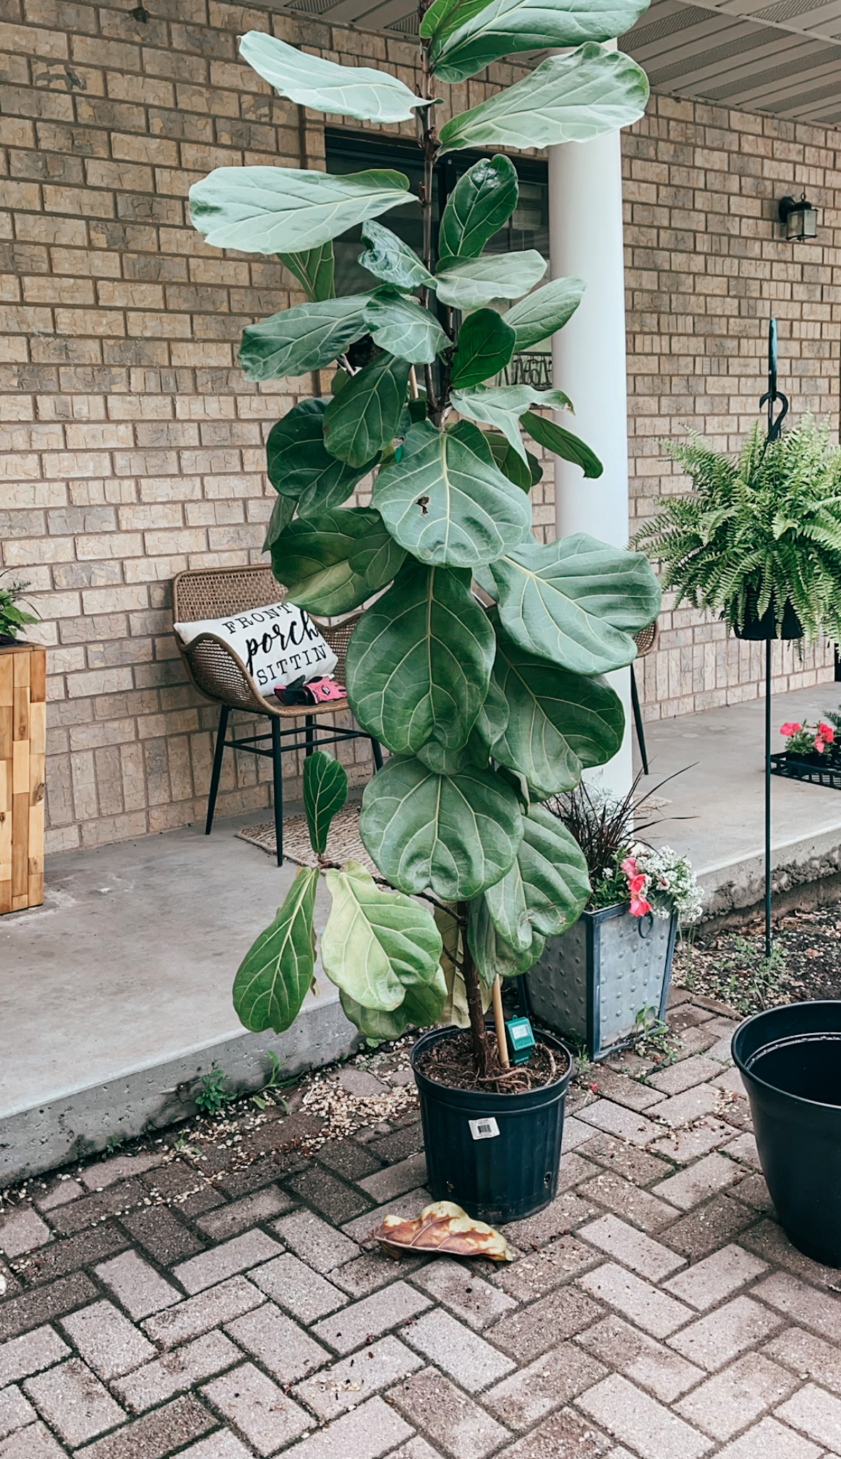
<instances>
[{"instance_id":1,"label":"dark green leaf touching upper left of the brown-spotted leaf","mask_svg":"<svg viewBox=\"0 0 841 1459\"><path fill-rule=\"evenodd\" d=\"M348 465L363 465L398 435L408 360L378 355L334 395L324 413L324 444Z\"/></svg>"}]
</instances>

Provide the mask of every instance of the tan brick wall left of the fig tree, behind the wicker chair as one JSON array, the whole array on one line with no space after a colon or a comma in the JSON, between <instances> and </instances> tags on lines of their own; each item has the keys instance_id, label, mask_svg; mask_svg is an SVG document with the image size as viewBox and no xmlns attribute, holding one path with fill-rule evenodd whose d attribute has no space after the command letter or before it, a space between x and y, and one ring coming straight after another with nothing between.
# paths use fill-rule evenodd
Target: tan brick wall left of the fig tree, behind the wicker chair
<instances>
[{"instance_id":1,"label":"tan brick wall left of the fig tree, behind the wicker chair","mask_svg":"<svg viewBox=\"0 0 841 1459\"><path fill-rule=\"evenodd\" d=\"M52 851L203 816L217 712L185 680L171 579L259 559L262 442L310 390L233 368L246 322L300 302L294 280L187 222L210 168L324 168L324 118L273 96L236 36L273 31L415 83L417 47L398 35L213 0L149 10L0 0L0 565L31 581L50 645ZM520 74L494 67L453 88L453 108ZM551 473L545 495L548 527ZM367 779L367 741L340 751ZM284 769L296 782L294 756ZM268 778L227 751L219 813L267 805Z\"/></svg>"}]
</instances>

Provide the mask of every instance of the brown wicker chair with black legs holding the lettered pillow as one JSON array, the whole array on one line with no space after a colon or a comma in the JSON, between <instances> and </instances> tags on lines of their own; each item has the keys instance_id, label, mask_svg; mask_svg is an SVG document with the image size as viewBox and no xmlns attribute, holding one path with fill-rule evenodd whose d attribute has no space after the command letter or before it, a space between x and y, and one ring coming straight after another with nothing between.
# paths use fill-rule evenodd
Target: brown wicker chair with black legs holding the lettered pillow
<instances>
[{"instance_id":1,"label":"brown wicker chair with black legs holding the lettered pillow","mask_svg":"<svg viewBox=\"0 0 841 1459\"><path fill-rule=\"evenodd\" d=\"M277 603L284 589L271 575L271 568L201 568L195 572L179 572L172 582L172 605L175 623L195 623L201 619L220 619L226 613L248 613L264 603ZM331 627L319 622L319 630L338 658L335 677L344 680L344 657L354 624L360 614L354 613L343 623ZM213 811L222 773L224 747L245 750L248 754L262 754L271 759L274 772L274 830L277 836L277 864L283 865L283 773L281 760L293 750L312 754L325 744L340 740L367 740L361 730L338 730L335 725L316 725L321 715L341 713L348 708L347 699L334 699L324 705L273 705L262 697L245 664L216 633L200 633L191 643L182 643L175 635L187 673L200 694L219 705L219 730L207 798L207 823L204 835L210 836ZM227 719L232 709L249 715L264 715L271 722L270 734L243 735L226 740ZM300 724L281 725L303 719ZM271 741L271 748L264 741ZM286 743L289 741L289 743ZM376 740L370 741L373 763L382 766L382 751Z\"/></svg>"}]
</instances>

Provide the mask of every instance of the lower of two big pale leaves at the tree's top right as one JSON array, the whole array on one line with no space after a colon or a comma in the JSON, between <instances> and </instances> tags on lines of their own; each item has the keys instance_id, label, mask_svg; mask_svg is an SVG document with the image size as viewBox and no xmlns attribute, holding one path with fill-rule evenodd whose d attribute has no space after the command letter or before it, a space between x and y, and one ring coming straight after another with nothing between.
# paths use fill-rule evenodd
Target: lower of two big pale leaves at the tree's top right
<instances>
[{"instance_id":1,"label":"lower of two big pale leaves at the tree's top right","mask_svg":"<svg viewBox=\"0 0 841 1459\"><path fill-rule=\"evenodd\" d=\"M646 73L630 55L589 42L551 55L525 80L445 123L440 144L453 152L589 142L638 121L647 99Z\"/></svg>"}]
</instances>

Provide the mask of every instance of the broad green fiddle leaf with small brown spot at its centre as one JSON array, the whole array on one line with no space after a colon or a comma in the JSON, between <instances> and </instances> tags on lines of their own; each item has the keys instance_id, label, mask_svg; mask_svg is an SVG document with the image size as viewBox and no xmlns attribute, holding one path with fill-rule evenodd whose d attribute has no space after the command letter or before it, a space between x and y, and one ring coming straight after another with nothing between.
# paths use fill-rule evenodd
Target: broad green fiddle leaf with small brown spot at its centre
<instances>
[{"instance_id":1,"label":"broad green fiddle leaf with small brown spot at its centre","mask_svg":"<svg viewBox=\"0 0 841 1459\"><path fill-rule=\"evenodd\" d=\"M429 420L411 426L399 461L376 477L372 500L401 547L434 566L475 569L531 527L528 498L497 468L469 420L452 430Z\"/></svg>"}]
</instances>

